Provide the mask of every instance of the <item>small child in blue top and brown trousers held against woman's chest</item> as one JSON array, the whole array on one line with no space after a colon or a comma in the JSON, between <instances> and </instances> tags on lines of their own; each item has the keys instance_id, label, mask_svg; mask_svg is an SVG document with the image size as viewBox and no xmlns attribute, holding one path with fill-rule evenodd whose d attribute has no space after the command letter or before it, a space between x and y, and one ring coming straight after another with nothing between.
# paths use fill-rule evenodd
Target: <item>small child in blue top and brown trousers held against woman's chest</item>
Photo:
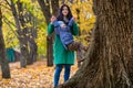
<instances>
[{"instance_id":1,"label":"small child in blue top and brown trousers held against woman's chest","mask_svg":"<svg viewBox=\"0 0 133 88\"><path fill-rule=\"evenodd\" d=\"M71 28L74 23L74 18L72 18L68 24L65 24L63 21L53 21L53 26L55 34L58 34L61 38L61 42L65 50L69 51L78 51L80 54L80 57L83 58L83 51L86 51L86 48L80 43L75 42L73 40L73 35L71 33Z\"/></svg>"}]
</instances>

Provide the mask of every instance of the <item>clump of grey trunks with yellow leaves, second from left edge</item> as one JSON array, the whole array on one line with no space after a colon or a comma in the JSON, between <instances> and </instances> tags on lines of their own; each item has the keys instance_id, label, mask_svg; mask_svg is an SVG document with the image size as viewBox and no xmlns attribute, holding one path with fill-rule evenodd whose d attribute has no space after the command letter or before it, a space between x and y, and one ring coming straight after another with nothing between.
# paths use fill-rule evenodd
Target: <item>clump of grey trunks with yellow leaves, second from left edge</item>
<instances>
[{"instance_id":1,"label":"clump of grey trunks with yellow leaves, second from left edge","mask_svg":"<svg viewBox=\"0 0 133 88\"><path fill-rule=\"evenodd\" d=\"M17 28L17 36L20 42L20 51L21 58L20 64L21 67L25 67L27 65L33 64L37 59L37 28L34 26L34 16L28 12L27 2L22 2L20 0L10 0L7 4L11 8L16 28ZM17 7L16 7L17 4ZM23 7L24 6L24 7Z\"/></svg>"}]
</instances>

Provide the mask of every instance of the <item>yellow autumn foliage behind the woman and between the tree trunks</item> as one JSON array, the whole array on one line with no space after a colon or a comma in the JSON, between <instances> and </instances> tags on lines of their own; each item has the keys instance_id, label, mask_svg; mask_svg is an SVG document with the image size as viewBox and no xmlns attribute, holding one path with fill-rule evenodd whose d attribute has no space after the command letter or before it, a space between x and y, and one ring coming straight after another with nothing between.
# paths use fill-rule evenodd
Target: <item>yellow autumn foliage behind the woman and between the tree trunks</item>
<instances>
[{"instance_id":1,"label":"yellow autumn foliage behind the woman and between the tree trunks","mask_svg":"<svg viewBox=\"0 0 133 88\"><path fill-rule=\"evenodd\" d=\"M12 11L10 6L7 3L10 0L1 0L1 11L3 15L3 37L6 41L6 47L13 47L16 50L20 50L19 40L17 37L17 28L14 18L12 15ZM16 8L18 0L12 0ZM47 28L48 24L45 22L45 18L41 11L41 8L37 0L20 0L22 3L23 11L20 12L23 15L23 19L27 21L24 26L34 28L37 35L34 37L35 43L38 45L38 54L47 55ZM76 36L75 40L88 45L88 41L90 38L89 32L92 30L94 24L94 15L92 11L92 1L90 0L65 0L65 4L69 4L73 16L76 18L76 22L80 28L80 36ZM47 4L47 3L45 3ZM50 3L51 4L51 3ZM59 6L62 4L62 0L59 0ZM52 9L52 8L51 8ZM52 11L52 10L51 10ZM30 22L30 20L32 20ZM22 26L22 29L24 28ZM31 33L25 34L28 37L32 37Z\"/></svg>"}]
</instances>

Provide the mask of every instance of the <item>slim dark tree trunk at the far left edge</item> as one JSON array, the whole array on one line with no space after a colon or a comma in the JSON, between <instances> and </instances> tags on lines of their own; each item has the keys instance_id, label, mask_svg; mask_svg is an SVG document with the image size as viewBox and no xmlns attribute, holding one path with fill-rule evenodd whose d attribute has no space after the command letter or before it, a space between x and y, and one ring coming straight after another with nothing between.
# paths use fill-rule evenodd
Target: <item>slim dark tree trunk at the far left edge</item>
<instances>
[{"instance_id":1,"label":"slim dark tree trunk at the far left edge","mask_svg":"<svg viewBox=\"0 0 133 88\"><path fill-rule=\"evenodd\" d=\"M4 40L2 34L2 12L0 7L0 65L2 70L2 78L10 78L9 62L6 54Z\"/></svg>"}]
</instances>

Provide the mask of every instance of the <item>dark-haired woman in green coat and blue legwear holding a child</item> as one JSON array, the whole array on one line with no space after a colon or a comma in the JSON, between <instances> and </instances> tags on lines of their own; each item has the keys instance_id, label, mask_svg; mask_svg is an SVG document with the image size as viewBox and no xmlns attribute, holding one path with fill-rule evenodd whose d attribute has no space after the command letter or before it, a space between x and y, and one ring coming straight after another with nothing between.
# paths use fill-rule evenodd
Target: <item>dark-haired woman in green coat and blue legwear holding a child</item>
<instances>
[{"instance_id":1,"label":"dark-haired woman in green coat and blue legwear holding a child","mask_svg":"<svg viewBox=\"0 0 133 88\"><path fill-rule=\"evenodd\" d=\"M60 14L57 18L58 21L63 21L65 24L68 24L69 20L71 20L72 13L70 8L66 4L63 4L60 9ZM51 18L51 23L49 24L48 28L48 34L53 33L54 31L54 26L52 25L52 22L55 21L55 18L52 16ZM72 28L71 28L71 33L73 35L78 35L78 25L74 22ZM62 70L62 67L64 67L64 81L66 81L70 77L70 70L71 70L71 65L74 64L74 52L73 51L66 51L63 46L63 44L61 43L61 40L59 37L59 35L55 34L55 41L53 44L53 56L54 56L54 61L53 63L55 64L55 73L54 73L54 88L58 86L59 84L59 79L60 79L60 73Z\"/></svg>"}]
</instances>

